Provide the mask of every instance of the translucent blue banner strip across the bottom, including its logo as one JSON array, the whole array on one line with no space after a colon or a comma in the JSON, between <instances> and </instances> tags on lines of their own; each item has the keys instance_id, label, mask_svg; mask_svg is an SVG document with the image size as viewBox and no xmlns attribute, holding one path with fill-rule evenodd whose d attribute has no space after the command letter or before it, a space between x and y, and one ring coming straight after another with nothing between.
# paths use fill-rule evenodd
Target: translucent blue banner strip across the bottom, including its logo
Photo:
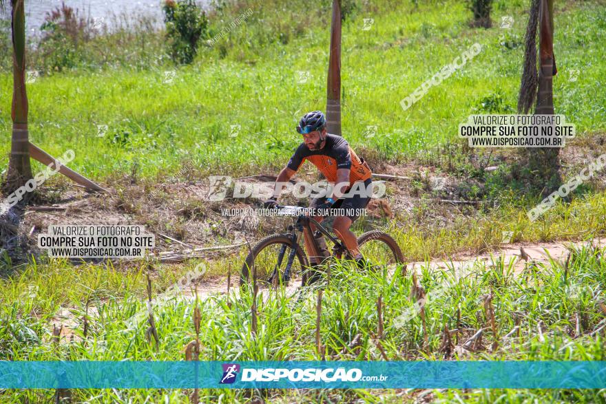
<instances>
[{"instance_id":1,"label":"translucent blue banner strip across the bottom, including its logo","mask_svg":"<svg viewBox=\"0 0 606 404\"><path fill-rule=\"evenodd\" d=\"M605 361L0 361L3 389L606 388Z\"/></svg>"}]
</instances>

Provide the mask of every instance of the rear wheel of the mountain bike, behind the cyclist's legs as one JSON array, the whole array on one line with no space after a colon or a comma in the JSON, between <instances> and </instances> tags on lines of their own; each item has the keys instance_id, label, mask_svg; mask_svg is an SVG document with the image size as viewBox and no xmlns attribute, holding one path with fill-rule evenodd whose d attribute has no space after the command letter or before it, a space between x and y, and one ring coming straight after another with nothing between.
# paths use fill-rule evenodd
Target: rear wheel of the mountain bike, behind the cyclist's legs
<instances>
[{"instance_id":1,"label":"rear wheel of the mountain bike, behind the cyclist's legs","mask_svg":"<svg viewBox=\"0 0 606 404\"><path fill-rule=\"evenodd\" d=\"M404 263L404 254L393 237L382 231L367 231L357 239L360 253L373 265L395 267Z\"/></svg>"}]
</instances>

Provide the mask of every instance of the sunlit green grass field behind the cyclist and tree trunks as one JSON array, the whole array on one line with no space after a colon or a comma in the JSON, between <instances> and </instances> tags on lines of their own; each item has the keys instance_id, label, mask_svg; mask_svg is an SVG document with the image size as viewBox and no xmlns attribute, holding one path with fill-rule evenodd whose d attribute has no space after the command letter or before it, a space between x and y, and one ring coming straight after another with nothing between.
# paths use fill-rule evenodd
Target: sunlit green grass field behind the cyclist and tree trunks
<instances>
[{"instance_id":1,"label":"sunlit green grass field behind the cyclist and tree trunks","mask_svg":"<svg viewBox=\"0 0 606 404\"><path fill-rule=\"evenodd\" d=\"M554 102L580 136L606 128L606 100L594 91L606 76L604 49L597 46L606 32L603 11L601 3L575 2L555 15L560 74L554 79ZM346 20L342 117L353 147L364 146L382 158L406 158L456 138L457 125L482 111L487 97L515 107L523 55L523 46L516 44L523 41L525 8L497 3L493 19L498 23L503 15L514 16L511 30L469 28L468 10L452 1L379 8L370 14L375 22L368 31L361 30L368 17L362 11ZM251 20L234 30L233 40L259 29ZM101 70L42 76L28 86L30 136L54 155L74 149L74 168L96 180L129 173L134 162L148 177L178 174L184 160L205 173L277 170L300 142L293 129L298 118L325 107L328 41L326 28L310 25L286 45L229 43L224 59L216 49L220 44L205 47L187 67L107 64ZM410 109L401 109L402 98L475 42L484 47L478 56ZM568 81L570 69L581 70L578 81ZM174 83L163 84L165 70L176 70ZM308 83L297 83L298 71L309 71ZM7 135L0 153L5 155L11 91L5 71L0 74L0 131ZM96 137L97 125L108 126L105 137ZM240 125L235 138L229 137L231 125ZM375 138L365 138L367 125L378 126ZM0 162L0 171L6 164Z\"/></svg>"}]
</instances>

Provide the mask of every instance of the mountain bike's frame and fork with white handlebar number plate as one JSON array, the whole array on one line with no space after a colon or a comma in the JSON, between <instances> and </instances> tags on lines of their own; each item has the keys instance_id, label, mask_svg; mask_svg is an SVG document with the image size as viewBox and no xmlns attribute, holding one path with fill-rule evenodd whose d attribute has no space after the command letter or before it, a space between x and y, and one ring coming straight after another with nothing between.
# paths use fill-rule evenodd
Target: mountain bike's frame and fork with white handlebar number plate
<instances>
[{"instance_id":1,"label":"mountain bike's frame and fork with white handlebar number plate","mask_svg":"<svg viewBox=\"0 0 606 404\"><path fill-rule=\"evenodd\" d=\"M300 208L300 206L276 206L276 209L295 209L295 211L300 212L302 208ZM314 251L308 251L307 253L313 253L315 256L319 255L318 252L320 251L320 246L317 245L315 237L313 237L313 230L311 228L312 222L313 224L315 224L317 230L320 231L320 233L328 237L328 240L331 240L331 242L335 244L335 248L333 248L333 255L335 255L335 253L348 254L346 246L344 246L344 244L340 240L337 240L337 238L333 237L333 235L331 235L331 233L329 233L328 230L324 226L322 226L320 222L317 222L317 220L315 220L313 217L310 217L304 213L297 213L293 216L296 217L296 221L294 225L291 224L288 228L289 231L292 231L293 233L291 235L291 252L289 254L288 261L286 262L286 269L284 270L285 282L288 282L291 279L291 266L293 265L293 262L295 260L295 253L297 252L297 243L299 242L300 234L307 233L310 236L309 239L311 240L311 245L313 246ZM286 253L286 245L283 245L282 248L280 248L280 253L278 254L278 262L275 264L273 272L271 273L271 276L268 279L269 283L273 281L275 275L278 275L278 270L282 265L282 259L284 259L284 253Z\"/></svg>"}]
</instances>

